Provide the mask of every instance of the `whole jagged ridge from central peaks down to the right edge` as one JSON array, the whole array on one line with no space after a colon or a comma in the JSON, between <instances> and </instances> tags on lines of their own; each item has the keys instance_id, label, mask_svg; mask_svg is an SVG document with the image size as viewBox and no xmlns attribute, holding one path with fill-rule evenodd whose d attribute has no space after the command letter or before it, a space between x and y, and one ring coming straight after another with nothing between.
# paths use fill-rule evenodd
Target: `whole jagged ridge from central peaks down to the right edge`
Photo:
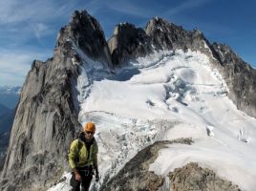
<instances>
[{"instance_id":1,"label":"whole jagged ridge from central peaks down to the right edge","mask_svg":"<svg viewBox=\"0 0 256 191\"><path fill-rule=\"evenodd\" d=\"M180 26L155 17L144 30L128 23L117 25L108 44L115 65L156 51L181 49L186 52L191 49L205 53L212 68L223 75L229 98L239 110L256 117L256 70L228 46L215 42L210 44L199 30L185 31Z\"/></svg>"}]
</instances>

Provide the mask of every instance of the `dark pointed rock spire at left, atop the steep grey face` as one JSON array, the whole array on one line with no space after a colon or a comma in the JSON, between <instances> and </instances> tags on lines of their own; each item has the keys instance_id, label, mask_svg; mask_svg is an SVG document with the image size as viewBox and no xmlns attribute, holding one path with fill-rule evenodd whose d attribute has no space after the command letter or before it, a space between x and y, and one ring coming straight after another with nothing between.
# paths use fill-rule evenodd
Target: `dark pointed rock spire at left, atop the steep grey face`
<instances>
[{"instance_id":1,"label":"dark pointed rock spire at left, atop the steep grey face","mask_svg":"<svg viewBox=\"0 0 256 191\"><path fill-rule=\"evenodd\" d=\"M87 11L75 11L70 23L61 28L57 35L56 50L69 47L67 44L71 41L92 59L105 62L108 67L113 68L104 32Z\"/></svg>"}]
</instances>

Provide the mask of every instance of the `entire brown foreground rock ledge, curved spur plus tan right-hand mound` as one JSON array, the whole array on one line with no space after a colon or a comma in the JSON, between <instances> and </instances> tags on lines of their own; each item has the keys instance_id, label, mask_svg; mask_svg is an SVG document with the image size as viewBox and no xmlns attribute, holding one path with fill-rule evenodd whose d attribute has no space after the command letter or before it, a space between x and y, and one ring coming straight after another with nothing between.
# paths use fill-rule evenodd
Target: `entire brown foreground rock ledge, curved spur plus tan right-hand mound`
<instances>
[{"instance_id":1,"label":"entire brown foreground rock ledge, curved spur plus tan right-hand mound","mask_svg":"<svg viewBox=\"0 0 256 191\"><path fill-rule=\"evenodd\" d=\"M200 167L190 162L175 169L168 177L156 175L149 171L149 165L158 158L160 149L169 144L193 143L192 138L178 138L175 140L158 141L141 150L133 159L125 164L117 176L109 180L100 191L114 190L172 190L172 191L239 191L237 185L231 181L219 178L212 170Z\"/></svg>"}]
</instances>

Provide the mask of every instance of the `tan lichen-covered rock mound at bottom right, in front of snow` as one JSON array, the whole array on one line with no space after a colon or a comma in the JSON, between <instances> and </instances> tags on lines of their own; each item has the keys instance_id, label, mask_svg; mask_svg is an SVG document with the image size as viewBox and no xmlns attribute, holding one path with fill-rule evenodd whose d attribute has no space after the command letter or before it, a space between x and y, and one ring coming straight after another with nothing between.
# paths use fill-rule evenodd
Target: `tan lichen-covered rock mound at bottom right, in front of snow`
<instances>
[{"instance_id":1,"label":"tan lichen-covered rock mound at bottom right, in front of snow","mask_svg":"<svg viewBox=\"0 0 256 191\"><path fill-rule=\"evenodd\" d=\"M219 178L212 170L190 162L168 175L172 191L240 191L238 185Z\"/></svg>"}]
</instances>

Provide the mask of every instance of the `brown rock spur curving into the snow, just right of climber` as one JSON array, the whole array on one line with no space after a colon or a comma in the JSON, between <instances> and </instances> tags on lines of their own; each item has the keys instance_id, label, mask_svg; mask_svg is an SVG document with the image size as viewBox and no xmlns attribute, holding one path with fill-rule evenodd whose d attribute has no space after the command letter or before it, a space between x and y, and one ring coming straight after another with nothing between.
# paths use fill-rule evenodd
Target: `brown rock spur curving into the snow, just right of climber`
<instances>
[{"instance_id":1,"label":"brown rock spur curving into the snow, just right of climber","mask_svg":"<svg viewBox=\"0 0 256 191\"><path fill-rule=\"evenodd\" d=\"M112 180L103 185L100 190L159 190L164 178L149 171L149 164L158 157L159 150L166 144L191 144L190 138L179 138L171 141L157 141L153 145L139 151L139 153L117 173Z\"/></svg>"}]
</instances>

